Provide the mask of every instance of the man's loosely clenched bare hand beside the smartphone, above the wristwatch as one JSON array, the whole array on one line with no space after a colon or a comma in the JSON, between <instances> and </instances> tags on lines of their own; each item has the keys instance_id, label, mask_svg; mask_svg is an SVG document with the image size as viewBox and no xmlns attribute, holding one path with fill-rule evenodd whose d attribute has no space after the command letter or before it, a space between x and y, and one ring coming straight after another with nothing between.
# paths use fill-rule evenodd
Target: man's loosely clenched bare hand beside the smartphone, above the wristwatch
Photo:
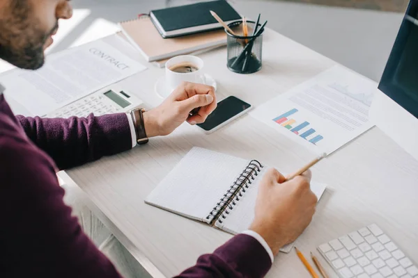
<instances>
[{"instance_id":1,"label":"man's loosely clenched bare hand beside the smartphone, above the wristwatch","mask_svg":"<svg viewBox=\"0 0 418 278\"><path fill-rule=\"evenodd\" d=\"M147 136L166 136L180 124L201 124L217 107L215 88L209 85L183 82L157 108L144 113ZM190 116L195 108L199 111Z\"/></svg>"}]
</instances>

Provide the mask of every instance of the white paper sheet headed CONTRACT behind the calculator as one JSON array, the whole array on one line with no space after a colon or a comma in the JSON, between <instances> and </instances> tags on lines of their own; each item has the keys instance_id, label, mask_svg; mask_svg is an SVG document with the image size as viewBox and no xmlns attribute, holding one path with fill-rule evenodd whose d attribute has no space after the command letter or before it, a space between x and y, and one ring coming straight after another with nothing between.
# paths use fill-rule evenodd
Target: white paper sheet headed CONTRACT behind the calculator
<instances>
[{"instance_id":1,"label":"white paper sheet headed CONTRACT behind the calculator","mask_svg":"<svg viewBox=\"0 0 418 278\"><path fill-rule=\"evenodd\" d=\"M124 45L112 47L101 40L90 42L47 56L40 70L15 69L2 74L0 80L7 97L31 115L43 116L146 70L115 47L123 49Z\"/></svg>"}]
</instances>

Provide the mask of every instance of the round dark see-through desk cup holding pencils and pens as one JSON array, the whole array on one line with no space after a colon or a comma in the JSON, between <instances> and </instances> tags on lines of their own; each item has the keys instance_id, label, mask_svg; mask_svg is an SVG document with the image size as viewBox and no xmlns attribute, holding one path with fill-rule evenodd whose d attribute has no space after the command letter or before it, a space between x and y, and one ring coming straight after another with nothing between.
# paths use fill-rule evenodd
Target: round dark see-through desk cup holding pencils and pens
<instances>
[{"instance_id":1,"label":"round dark see-through desk cup holding pencils and pens","mask_svg":"<svg viewBox=\"0 0 418 278\"><path fill-rule=\"evenodd\" d=\"M248 33L252 34L256 22L247 21ZM263 65L263 33L264 28L257 35L247 35L244 37L241 32L242 20L232 22L228 26L234 31L234 34L226 31L227 40L227 51L228 51L228 62L227 66L232 72L238 74L252 74L261 70ZM258 28L261 24L258 24Z\"/></svg>"}]
</instances>

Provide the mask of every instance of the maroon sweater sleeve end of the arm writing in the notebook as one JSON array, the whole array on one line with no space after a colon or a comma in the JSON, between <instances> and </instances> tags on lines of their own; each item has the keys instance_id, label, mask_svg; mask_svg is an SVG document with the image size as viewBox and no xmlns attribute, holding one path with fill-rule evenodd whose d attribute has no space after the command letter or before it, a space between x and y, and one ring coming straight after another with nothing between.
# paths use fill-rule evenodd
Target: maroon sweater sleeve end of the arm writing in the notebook
<instances>
[{"instance_id":1,"label":"maroon sweater sleeve end of the arm writing in the notebook","mask_svg":"<svg viewBox=\"0 0 418 278\"><path fill-rule=\"evenodd\" d=\"M264 277L272 261L256 238L238 234L212 254L197 260L196 265L178 275L178 278L204 277Z\"/></svg>"}]
</instances>

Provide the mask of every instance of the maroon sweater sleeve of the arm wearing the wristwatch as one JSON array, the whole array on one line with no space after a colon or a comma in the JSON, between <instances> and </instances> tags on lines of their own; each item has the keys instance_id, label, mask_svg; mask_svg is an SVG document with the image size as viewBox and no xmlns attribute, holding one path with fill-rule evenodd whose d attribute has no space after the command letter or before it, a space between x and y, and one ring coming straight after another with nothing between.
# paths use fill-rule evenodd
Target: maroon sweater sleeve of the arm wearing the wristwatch
<instances>
[{"instance_id":1,"label":"maroon sweater sleeve of the arm wearing the wristwatch","mask_svg":"<svg viewBox=\"0 0 418 278\"><path fill-rule=\"evenodd\" d=\"M33 143L65 170L132 148L125 113L69 119L17 116Z\"/></svg>"}]
</instances>

